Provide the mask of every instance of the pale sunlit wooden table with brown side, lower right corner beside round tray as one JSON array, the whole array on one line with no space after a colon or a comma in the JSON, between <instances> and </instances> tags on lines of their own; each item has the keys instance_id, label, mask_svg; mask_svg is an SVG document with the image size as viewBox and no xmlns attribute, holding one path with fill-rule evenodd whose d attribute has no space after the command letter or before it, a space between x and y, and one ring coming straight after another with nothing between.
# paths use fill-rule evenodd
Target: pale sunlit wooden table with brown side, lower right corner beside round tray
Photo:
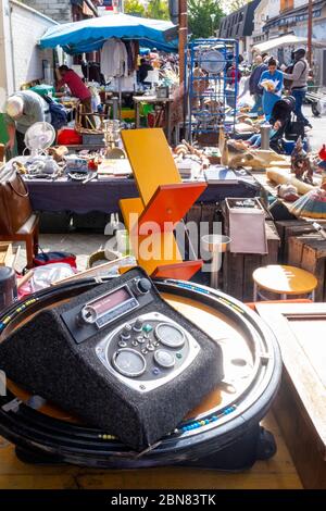
<instances>
[{"instance_id":1,"label":"pale sunlit wooden table with brown side, lower right corner beside round tray","mask_svg":"<svg viewBox=\"0 0 326 511\"><path fill-rule=\"evenodd\" d=\"M326 303L258 303L284 362L274 411L305 488L326 489Z\"/></svg>"}]
</instances>

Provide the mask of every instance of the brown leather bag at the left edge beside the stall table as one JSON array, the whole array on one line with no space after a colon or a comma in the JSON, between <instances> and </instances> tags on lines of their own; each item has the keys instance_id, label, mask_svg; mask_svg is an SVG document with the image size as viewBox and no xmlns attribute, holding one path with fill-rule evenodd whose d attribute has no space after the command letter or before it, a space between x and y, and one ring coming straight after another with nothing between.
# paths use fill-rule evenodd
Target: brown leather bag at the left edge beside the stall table
<instances>
[{"instance_id":1,"label":"brown leather bag at the left edge beside the stall table","mask_svg":"<svg viewBox=\"0 0 326 511\"><path fill-rule=\"evenodd\" d=\"M24 180L15 170L4 165L0 170L0 234L15 234L32 213Z\"/></svg>"}]
</instances>

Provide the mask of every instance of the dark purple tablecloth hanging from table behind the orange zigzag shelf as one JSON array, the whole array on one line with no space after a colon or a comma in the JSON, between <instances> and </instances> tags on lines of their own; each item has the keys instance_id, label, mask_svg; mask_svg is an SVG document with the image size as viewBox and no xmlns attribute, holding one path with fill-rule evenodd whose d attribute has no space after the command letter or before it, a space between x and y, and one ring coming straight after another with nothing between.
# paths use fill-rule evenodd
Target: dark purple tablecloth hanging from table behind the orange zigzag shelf
<instances>
[{"instance_id":1,"label":"dark purple tablecloth hanging from table behind the orange zigzag shelf","mask_svg":"<svg viewBox=\"0 0 326 511\"><path fill-rule=\"evenodd\" d=\"M86 185L72 180L51 182L43 179L26 180L32 205L35 211L72 211L88 213L118 211L120 199L139 197L134 179L112 178L91 180ZM238 184L209 185L199 198L199 202L220 202L225 197L254 197L258 185L254 179Z\"/></svg>"}]
</instances>

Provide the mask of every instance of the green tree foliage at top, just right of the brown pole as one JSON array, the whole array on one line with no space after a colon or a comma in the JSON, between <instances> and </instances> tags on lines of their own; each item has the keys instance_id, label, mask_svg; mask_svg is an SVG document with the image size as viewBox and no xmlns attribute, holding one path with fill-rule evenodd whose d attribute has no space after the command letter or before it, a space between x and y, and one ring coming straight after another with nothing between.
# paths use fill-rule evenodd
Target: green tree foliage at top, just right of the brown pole
<instances>
[{"instance_id":1,"label":"green tree foliage at top, just right of the brown pole","mask_svg":"<svg viewBox=\"0 0 326 511\"><path fill-rule=\"evenodd\" d=\"M211 14L215 14L214 20ZM213 36L223 16L216 0L188 0L188 25L193 39Z\"/></svg>"}]
</instances>

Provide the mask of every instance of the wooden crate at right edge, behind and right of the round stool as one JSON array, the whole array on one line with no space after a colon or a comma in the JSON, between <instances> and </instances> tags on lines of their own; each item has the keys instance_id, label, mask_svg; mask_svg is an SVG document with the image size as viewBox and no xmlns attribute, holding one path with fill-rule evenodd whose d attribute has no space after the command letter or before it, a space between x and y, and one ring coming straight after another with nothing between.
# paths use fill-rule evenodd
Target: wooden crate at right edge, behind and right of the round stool
<instances>
[{"instance_id":1,"label":"wooden crate at right edge, behind and right of the round stool","mask_svg":"<svg viewBox=\"0 0 326 511\"><path fill-rule=\"evenodd\" d=\"M318 281L315 300L326 301L326 239L317 233L292 236L288 263L313 273Z\"/></svg>"}]
</instances>

